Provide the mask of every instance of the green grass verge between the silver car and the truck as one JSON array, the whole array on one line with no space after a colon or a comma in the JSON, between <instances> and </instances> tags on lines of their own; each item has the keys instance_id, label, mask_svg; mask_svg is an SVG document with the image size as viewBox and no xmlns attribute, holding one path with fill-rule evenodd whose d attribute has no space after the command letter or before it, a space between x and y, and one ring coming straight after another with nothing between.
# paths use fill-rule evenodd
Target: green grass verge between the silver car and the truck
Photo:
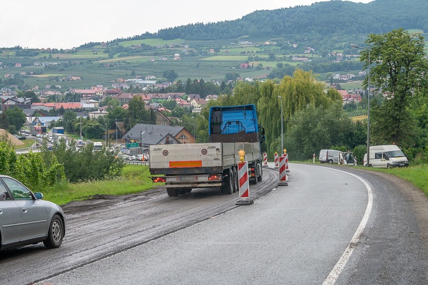
<instances>
[{"instance_id":1,"label":"green grass verge between the silver car and the truck","mask_svg":"<svg viewBox=\"0 0 428 285\"><path fill-rule=\"evenodd\" d=\"M64 205L71 201L89 200L95 195L126 195L153 188L147 166L125 166L122 177L112 180L63 183L43 191L44 200Z\"/></svg>"}]
</instances>

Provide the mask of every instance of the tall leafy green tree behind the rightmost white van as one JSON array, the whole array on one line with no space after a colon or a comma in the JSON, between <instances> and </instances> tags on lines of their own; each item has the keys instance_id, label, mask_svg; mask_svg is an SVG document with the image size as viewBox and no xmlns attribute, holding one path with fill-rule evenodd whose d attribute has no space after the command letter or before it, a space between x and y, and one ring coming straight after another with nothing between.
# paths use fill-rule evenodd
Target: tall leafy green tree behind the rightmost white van
<instances>
[{"instance_id":1,"label":"tall leafy green tree behind the rightmost white van","mask_svg":"<svg viewBox=\"0 0 428 285\"><path fill-rule=\"evenodd\" d=\"M417 133L416 120L410 111L415 96L426 92L427 60L424 59L424 40L420 34L403 29L386 34L370 34L370 83L382 86L386 100L373 106L371 139L375 144L396 143L411 146ZM369 51L361 52L365 67L369 64ZM368 79L364 81L368 85Z\"/></svg>"}]
</instances>

